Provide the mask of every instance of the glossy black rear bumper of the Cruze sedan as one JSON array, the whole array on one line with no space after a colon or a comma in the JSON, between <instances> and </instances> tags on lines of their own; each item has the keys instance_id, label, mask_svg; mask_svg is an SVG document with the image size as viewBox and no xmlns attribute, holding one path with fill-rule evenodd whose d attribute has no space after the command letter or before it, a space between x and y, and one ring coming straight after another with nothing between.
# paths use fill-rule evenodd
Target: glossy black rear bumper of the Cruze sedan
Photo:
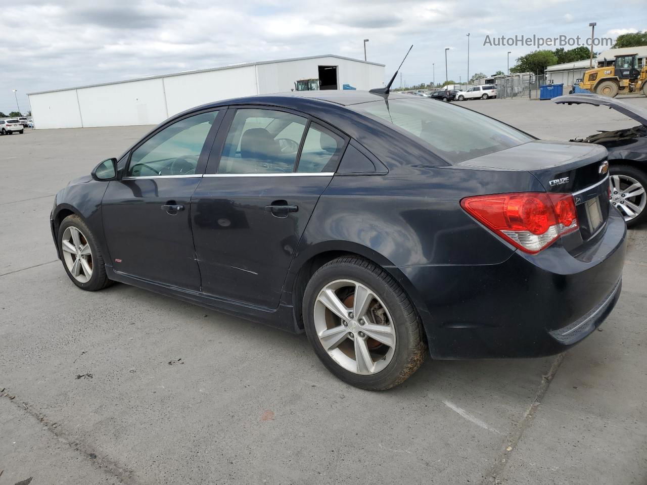
<instances>
[{"instance_id":1,"label":"glossy black rear bumper of the Cruze sedan","mask_svg":"<svg viewBox=\"0 0 647 485\"><path fill-rule=\"evenodd\" d=\"M554 244L499 264L408 266L433 358L538 357L591 334L620 296L626 226L606 228L573 257Z\"/></svg>"}]
</instances>

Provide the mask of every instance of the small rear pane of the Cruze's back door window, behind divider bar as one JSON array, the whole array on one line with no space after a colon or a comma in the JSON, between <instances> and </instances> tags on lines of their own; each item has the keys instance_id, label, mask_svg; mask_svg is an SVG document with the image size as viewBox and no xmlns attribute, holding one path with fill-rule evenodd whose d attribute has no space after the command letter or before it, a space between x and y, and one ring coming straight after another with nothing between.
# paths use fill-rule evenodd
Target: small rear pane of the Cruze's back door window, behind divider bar
<instances>
[{"instance_id":1,"label":"small rear pane of the Cruze's back door window, behind divider bar","mask_svg":"<svg viewBox=\"0 0 647 485\"><path fill-rule=\"evenodd\" d=\"M298 172L332 172L339 164L344 139L324 127L311 124L303 142Z\"/></svg>"}]
</instances>

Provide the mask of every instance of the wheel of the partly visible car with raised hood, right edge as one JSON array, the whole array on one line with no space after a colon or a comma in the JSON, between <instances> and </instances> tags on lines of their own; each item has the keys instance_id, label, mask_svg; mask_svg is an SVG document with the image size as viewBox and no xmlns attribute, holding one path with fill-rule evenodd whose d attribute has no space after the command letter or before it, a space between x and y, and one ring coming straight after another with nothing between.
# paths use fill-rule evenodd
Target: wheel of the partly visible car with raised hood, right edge
<instances>
[{"instance_id":1,"label":"wheel of the partly visible car with raised hood, right edge","mask_svg":"<svg viewBox=\"0 0 647 485\"><path fill-rule=\"evenodd\" d=\"M628 227L647 218L647 173L629 165L611 165L609 189L615 206Z\"/></svg>"}]
</instances>

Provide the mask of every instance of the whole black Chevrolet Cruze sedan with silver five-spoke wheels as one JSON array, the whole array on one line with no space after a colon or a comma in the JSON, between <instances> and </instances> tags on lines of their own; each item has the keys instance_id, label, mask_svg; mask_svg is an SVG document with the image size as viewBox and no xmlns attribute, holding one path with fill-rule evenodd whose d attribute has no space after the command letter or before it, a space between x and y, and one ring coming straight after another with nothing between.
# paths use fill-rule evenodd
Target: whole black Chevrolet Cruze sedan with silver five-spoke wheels
<instances>
[{"instance_id":1,"label":"whole black Chevrolet Cruze sedan with silver five-spoke wheels","mask_svg":"<svg viewBox=\"0 0 647 485\"><path fill-rule=\"evenodd\" d=\"M254 96L173 116L72 181L51 229L72 282L113 281L306 332L365 389L436 359L568 349L619 294L607 151L450 103Z\"/></svg>"}]
</instances>

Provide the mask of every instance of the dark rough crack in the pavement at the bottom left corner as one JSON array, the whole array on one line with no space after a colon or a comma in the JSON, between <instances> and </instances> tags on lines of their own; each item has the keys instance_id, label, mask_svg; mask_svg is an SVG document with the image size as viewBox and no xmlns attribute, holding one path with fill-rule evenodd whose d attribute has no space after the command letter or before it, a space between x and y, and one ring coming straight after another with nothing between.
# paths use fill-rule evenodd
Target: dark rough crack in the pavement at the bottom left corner
<instances>
[{"instance_id":1,"label":"dark rough crack in the pavement at the bottom left corner","mask_svg":"<svg viewBox=\"0 0 647 485\"><path fill-rule=\"evenodd\" d=\"M52 421L42 413L35 411L30 404L20 400L16 395L10 393L6 388L0 386L0 389L2 389L3 391L0 394L0 398L8 398L10 402L13 402L18 407L18 409L25 411L28 415L32 416L32 418L36 419L40 424L44 424L47 428L47 431L52 433L52 435L54 435L59 442L67 444L67 446L74 449L74 451L78 451L81 455L83 455L83 457L88 458L94 468L112 475L123 484L138 485L138 483L132 477L134 473L133 471L122 468L116 462L109 460L108 458L99 457L94 449L83 443L67 439L67 437L65 437L65 433L62 432L60 424L58 422Z\"/></svg>"}]
</instances>

